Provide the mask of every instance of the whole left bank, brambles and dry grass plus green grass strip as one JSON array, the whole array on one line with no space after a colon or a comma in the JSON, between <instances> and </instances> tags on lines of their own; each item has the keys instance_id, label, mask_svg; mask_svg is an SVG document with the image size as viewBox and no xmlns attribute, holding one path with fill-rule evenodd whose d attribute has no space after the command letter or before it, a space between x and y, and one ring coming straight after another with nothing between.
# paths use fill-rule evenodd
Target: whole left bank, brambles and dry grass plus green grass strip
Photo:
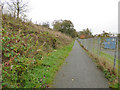
<instances>
[{"instance_id":1,"label":"whole left bank, brambles and dry grass plus green grass strip","mask_svg":"<svg viewBox=\"0 0 120 90\"><path fill-rule=\"evenodd\" d=\"M2 26L2 88L48 86L73 39L9 15L2 15Z\"/></svg>"}]
</instances>

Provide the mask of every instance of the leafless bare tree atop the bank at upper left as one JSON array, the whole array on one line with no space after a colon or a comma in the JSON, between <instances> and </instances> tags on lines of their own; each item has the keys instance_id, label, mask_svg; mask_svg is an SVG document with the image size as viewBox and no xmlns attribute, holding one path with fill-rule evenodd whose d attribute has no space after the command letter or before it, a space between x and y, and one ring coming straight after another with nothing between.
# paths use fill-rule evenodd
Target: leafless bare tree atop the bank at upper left
<instances>
[{"instance_id":1,"label":"leafless bare tree atop the bank at upper left","mask_svg":"<svg viewBox=\"0 0 120 90\"><path fill-rule=\"evenodd\" d=\"M9 11L17 18L28 10L28 2L25 3L23 0L11 0L10 2L7 2L7 5Z\"/></svg>"}]
</instances>

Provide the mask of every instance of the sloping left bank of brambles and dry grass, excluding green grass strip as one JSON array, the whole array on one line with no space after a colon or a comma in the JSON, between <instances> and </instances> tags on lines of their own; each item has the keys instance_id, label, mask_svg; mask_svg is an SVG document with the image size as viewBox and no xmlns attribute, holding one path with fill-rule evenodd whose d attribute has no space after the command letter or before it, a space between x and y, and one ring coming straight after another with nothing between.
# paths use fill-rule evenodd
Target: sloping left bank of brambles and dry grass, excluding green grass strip
<instances>
[{"instance_id":1,"label":"sloping left bank of brambles and dry grass, excluding green grass strip","mask_svg":"<svg viewBox=\"0 0 120 90\"><path fill-rule=\"evenodd\" d=\"M44 57L49 56L55 49L61 49L73 41L71 37L61 32L32 22L24 22L8 15L3 15L2 19L3 88L24 87L26 85L24 75L37 65L41 65ZM33 81L34 79L32 78Z\"/></svg>"}]
</instances>

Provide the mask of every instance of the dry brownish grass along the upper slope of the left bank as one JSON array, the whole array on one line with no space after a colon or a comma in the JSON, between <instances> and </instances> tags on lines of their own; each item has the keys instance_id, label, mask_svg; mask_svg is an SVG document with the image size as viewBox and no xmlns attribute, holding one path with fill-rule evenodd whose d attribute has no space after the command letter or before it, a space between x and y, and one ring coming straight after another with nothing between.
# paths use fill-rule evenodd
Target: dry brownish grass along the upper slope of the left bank
<instances>
[{"instance_id":1,"label":"dry brownish grass along the upper slope of the left bank","mask_svg":"<svg viewBox=\"0 0 120 90\"><path fill-rule=\"evenodd\" d=\"M53 43L55 43L56 48L61 48L73 41L70 36L41 25L33 24L30 21L24 22L21 19L15 19L14 17L8 15L3 15L2 19L2 26L7 32L18 33L20 31L21 33L24 33L24 35L35 34L35 37L37 39L39 38L40 45L46 42L45 47L47 47L47 51L52 50Z\"/></svg>"}]
</instances>

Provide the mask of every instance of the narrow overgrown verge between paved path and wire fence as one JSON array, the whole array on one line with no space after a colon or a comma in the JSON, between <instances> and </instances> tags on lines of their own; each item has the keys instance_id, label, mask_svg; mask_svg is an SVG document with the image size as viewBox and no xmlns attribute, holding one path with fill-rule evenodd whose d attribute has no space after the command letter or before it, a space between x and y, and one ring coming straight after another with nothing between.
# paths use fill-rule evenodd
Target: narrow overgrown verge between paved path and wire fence
<instances>
[{"instance_id":1,"label":"narrow overgrown verge between paved path and wire fence","mask_svg":"<svg viewBox=\"0 0 120 90\"><path fill-rule=\"evenodd\" d=\"M78 41L79 42L79 41ZM81 43L79 42L81 45ZM109 61L110 56L101 52L98 56L96 53L91 53L81 45L86 53L92 58L92 60L96 63L97 67L104 72L105 78L109 81L110 88L118 88L118 73L117 71L113 71L113 65Z\"/></svg>"}]
</instances>

